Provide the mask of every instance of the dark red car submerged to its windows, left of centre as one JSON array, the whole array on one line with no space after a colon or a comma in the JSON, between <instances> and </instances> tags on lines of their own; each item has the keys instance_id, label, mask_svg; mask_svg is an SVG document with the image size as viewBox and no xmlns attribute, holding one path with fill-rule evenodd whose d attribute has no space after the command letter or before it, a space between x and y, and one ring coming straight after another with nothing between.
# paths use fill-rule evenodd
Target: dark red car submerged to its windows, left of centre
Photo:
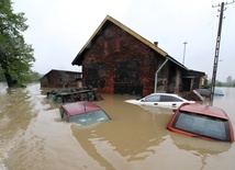
<instances>
[{"instance_id":1,"label":"dark red car submerged to its windows, left of centre","mask_svg":"<svg viewBox=\"0 0 235 170\"><path fill-rule=\"evenodd\" d=\"M64 104L59 112L61 120L80 125L91 125L110 120L110 116L100 106L88 101Z\"/></svg>"}]
</instances>

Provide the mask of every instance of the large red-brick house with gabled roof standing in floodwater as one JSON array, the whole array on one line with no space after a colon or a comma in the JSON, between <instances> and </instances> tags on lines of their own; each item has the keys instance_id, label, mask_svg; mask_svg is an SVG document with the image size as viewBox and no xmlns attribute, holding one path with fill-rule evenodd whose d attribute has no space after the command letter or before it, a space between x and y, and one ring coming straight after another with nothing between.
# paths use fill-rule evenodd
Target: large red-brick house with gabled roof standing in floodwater
<instances>
[{"instance_id":1,"label":"large red-brick house with gabled roof standing in floodwater","mask_svg":"<svg viewBox=\"0 0 235 170\"><path fill-rule=\"evenodd\" d=\"M188 69L157 43L150 43L107 16L71 65L82 66L82 83L101 93L147 95L200 88L204 72Z\"/></svg>"}]
</instances>

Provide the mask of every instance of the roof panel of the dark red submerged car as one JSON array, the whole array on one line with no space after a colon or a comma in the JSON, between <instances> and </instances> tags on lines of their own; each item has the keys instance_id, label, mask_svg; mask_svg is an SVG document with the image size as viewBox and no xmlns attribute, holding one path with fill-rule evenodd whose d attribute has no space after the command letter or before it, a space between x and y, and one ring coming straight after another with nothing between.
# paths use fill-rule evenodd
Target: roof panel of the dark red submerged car
<instances>
[{"instance_id":1,"label":"roof panel of the dark red submerged car","mask_svg":"<svg viewBox=\"0 0 235 170\"><path fill-rule=\"evenodd\" d=\"M88 102L88 101L67 103L67 104L61 105L61 107L70 116L101 110L97 104Z\"/></svg>"}]
</instances>

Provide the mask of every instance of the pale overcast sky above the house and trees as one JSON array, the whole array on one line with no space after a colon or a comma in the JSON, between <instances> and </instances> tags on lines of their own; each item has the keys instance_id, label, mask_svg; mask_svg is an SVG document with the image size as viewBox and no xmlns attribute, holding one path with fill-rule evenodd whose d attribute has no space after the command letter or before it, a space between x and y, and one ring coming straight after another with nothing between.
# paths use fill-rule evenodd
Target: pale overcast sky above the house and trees
<instances>
[{"instance_id":1,"label":"pale overcast sky above the house and trees","mask_svg":"<svg viewBox=\"0 0 235 170\"><path fill-rule=\"evenodd\" d=\"M232 2L228 0L225 2ZM221 0L12 0L30 26L24 33L36 61L33 70L80 71L71 61L109 14L189 69L212 78ZM235 3L224 11L216 79L235 79Z\"/></svg>"}]
</instances>

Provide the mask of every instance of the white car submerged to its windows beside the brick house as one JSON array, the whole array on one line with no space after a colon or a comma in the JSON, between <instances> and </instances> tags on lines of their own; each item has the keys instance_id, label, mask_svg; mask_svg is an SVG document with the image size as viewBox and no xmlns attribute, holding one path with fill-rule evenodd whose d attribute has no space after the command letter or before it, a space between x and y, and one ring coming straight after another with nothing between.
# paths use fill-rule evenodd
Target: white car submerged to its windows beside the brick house
<instances>
[{"instance_id":1,"label":"white car submerged to its windows beside the brick house","mask_svg":"<svg viewBox=\"0 0 235 170\"><path fill-rule=\"evenodd\" d=\"M145 98L127 100L126 102L142 106L161 106L169 109L178 109L182 103L195 103L194 101L188 101L177 94L171 93L152 93Z\"/></svg>"}]
</instances>

